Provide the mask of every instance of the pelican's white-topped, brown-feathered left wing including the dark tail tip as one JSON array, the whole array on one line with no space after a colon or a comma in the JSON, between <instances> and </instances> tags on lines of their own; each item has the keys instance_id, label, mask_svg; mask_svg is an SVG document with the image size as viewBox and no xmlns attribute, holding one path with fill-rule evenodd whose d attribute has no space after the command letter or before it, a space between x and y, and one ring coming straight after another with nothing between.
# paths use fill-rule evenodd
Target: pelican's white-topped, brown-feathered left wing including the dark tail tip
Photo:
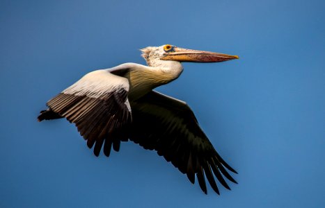
<instances>
[{"instance_id":1,"label":"pelican's white-topped, brown-feathered left wing including the dark tail tip","mask_svg":"<svg viewBox=\"0 0 325 208\"><path fill-rule=\"evenodd\" d=\"M38 117L56 119L65 117L75 123L80 134L94 147L98 156L104 144L104 154L109 156L111 146L118 151L120 141L127 141L132 122L127 94L129 82L107 69L86 74L77 83L63 90L47 102L48 110Z\"/></svg>"}]
</instances>

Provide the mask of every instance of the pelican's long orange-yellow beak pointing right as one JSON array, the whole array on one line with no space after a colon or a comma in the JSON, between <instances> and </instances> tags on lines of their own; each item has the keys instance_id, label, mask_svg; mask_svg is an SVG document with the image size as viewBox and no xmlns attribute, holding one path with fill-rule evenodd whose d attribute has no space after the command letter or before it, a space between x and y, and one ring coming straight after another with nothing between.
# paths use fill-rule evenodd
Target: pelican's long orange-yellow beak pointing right
<instances>
[{"instance_id":1,"label":"pelican's long orange-yellow beak pointing right","mask_svg":"<svg viewBox=\"0 0 325 208\"><path fill-rule=\"evenodd\" d=\"M178 62L224 62L239 59L238 55L228 55L209 51L196 51L173 47L173 50L164 53L161 60L175 60Z\"/></svg>"}]
</instances>

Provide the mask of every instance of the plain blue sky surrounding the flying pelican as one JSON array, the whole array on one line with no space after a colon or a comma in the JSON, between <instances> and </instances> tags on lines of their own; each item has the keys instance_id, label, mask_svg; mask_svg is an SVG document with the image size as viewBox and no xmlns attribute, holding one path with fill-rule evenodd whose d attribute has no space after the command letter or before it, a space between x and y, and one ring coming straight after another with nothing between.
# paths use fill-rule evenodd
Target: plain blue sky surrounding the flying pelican
<instances>
[{"instance_id":1,"label":"plain blue sky surrounding the flying pelican","mask_svg":"<svg viewBox=\"0 0 325 208\"><path fill-rule=\"evenodd\" d=\"M0 207L324 207L325 1L0 1ZM206 196L132 142L95 157L74 125L36 121L81 76L145 64L145 46L239 55L184 63L187 101L239 174Z\"/></svg>"}]
</instances>

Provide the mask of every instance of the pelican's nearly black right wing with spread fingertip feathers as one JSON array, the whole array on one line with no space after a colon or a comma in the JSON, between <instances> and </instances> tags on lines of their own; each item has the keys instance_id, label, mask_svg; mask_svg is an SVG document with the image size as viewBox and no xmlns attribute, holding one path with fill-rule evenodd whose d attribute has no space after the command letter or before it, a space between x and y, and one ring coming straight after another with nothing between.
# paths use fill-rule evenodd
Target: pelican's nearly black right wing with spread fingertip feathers
<instances>
[{"instance_id":1,"label":"pelican's nearly black right wing with spread fingertip feathers","mask_svg":"<svg viewBox=\"0 0 325 208\"><path fill-rule=\"evenodd\" d=\"M237 183L225 168L237 172L216 152L186 103L152 91L132 102L131 107L130 139L145 149L157 150L158 155L186 173L192 183L196 175L204 193L205 177L218 194L214 175L227 189L230 187L223 176Z\"/></svg>"}]
</instances>

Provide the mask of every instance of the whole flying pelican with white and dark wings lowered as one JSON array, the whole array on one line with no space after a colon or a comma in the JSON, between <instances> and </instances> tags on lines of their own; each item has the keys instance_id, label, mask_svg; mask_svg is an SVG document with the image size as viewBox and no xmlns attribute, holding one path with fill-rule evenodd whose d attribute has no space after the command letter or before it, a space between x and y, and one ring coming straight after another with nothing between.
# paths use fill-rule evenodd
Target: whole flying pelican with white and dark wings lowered
<instances>
[{"instance_id":1,"label":"whole flying pelican with white and dark wings lowered","mask_svg":"<svg viewBox=\"0 0 325 208\"><path fill-rule=\"evenodd\" d=\"M187 174L192 184L196 175L205 194L205 177L218 195L214 178L230 190L224 177L237 184L228 171L237 172L216 152L191 108L153 89L177 79L183 71L181 62L223 62L239 57L170 44L141 51L148 66L129 62L87 73L51 98L38 121L68 119L77 126L89 148L95 145L96 156L103 149L109 157L112 146L118 152L120 141L134 141L145 149L156 150Z\"/></svg>"}]
</instances>

